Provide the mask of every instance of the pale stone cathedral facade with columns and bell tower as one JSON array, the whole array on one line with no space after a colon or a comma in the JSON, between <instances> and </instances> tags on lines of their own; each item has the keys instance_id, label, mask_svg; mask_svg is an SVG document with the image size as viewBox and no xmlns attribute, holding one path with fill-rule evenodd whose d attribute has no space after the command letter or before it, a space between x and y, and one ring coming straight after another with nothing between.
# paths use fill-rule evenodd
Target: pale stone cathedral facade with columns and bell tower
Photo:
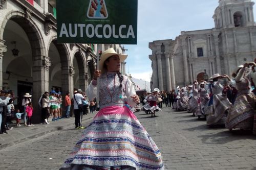
<instances>
[{"instance_id":1,"label":"pale stone cathedral facade with columns and bell tower","mask_svg":"<svg viewBox=\"0 0 256 170\"><path fill-rule=\"evenodd\" d=\"M219 0L215 28L182 31L175 40L149 43L152 55L152 89L172 90L194 80L219 74L256 58L256 26L251 0Z\"/></svg>"}]
</instances>

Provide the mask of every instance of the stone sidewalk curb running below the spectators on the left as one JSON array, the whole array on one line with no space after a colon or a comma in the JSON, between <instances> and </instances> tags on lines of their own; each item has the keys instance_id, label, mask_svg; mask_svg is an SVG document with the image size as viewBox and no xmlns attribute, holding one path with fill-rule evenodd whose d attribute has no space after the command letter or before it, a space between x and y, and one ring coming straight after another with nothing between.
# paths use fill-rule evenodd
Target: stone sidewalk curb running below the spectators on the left
<instances>
[{"instance_id":1,"label":"stone sidewalk curb running below the spectators on the left","mask_svg":"<svg viewBox=\"0 0 256 170\"><path fill-rule=\"evenodd\" d=\"M88 120L91 120L91 119L93 119L93 118L94 118L94 117L90 117L90 118L87 119L87 121L88 121ZM46 130L46 131L44 131L44 132L36 133L36 134L30 135L30 136L24 137L24 138L19 138L19 139L17 139L17 140L14 140L14 141L12 141L12 142L9 142L9 143L3 143L3 144L0 143L0 150L6 149L6 148L8 148L8 147L11 147L12 145L15 145L15 144L17 144L17 143L22 143L22 142L25 142L25 141L28 141L28 140L31 140L31 139L35 139L35 138L40 137L40 136L44 136L44 135L46 135L46 134L48 134L48 133L52 133L52 132L55 132L55 131L63 130L63 129L65 129L65 128L67 128L67 127L70 127L70 126L73 125L73 124L74 124L74 123L66 124L65 127L63 127L63 126L55 126L55 127L52 127L51 129Z\"/></svg>"}]
</instances>

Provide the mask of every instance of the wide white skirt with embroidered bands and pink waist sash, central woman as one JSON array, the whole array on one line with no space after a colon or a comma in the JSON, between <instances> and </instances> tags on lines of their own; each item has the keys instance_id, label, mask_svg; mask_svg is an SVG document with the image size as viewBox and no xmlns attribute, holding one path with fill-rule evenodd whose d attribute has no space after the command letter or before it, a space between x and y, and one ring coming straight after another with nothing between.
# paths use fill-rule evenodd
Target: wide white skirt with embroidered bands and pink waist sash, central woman
<instances>
[{"instance_id":1,"label":"wide white skirt with embroidered bands and pink waist sash, central woman","mask_svg":"<svg viewBox=\"0 0 256 170\"><path fill-rule=\"evenodd\" d=\"M106 107L83 132L63 164L164 169L155 142L127 107Z\"/></svg>"}]
</instances>

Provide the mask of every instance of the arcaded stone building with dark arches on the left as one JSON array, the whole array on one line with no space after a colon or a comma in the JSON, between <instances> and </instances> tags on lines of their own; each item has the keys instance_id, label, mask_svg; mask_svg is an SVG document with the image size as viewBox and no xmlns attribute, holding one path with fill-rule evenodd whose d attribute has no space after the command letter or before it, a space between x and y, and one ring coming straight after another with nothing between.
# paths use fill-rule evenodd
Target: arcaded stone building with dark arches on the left
<instances>
[{"instance_id":1,"label":"arcaded stone building with dark arches on the left","mask_svg":"<svg viewBox=\"0 0 256 170\"><path fill-rule=\"evenodd\" d=\"M100 51L117 44L57 43L55 0L0 1L0 89L13 90L19 96L32 94L33 115L40 120L38 99L45 91L61 91L63 96L89 85ZM125 62L121 63L125 74ZM64 105L63 105L64 106Z\"/></svg>"}]
</instances>

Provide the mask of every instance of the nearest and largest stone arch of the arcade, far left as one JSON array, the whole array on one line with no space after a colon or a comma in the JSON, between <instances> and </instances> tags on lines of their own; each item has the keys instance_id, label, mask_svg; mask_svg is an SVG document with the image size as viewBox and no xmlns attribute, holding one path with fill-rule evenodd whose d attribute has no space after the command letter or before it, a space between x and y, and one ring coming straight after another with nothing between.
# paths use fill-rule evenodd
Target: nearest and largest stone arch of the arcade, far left
<instances>
[{"instance_id":1,"label":"nearest and largest stone arch of the arcade, far left","mask_svg":"<svg viewBox=\"0 0 256 170\"><path fill-rule=\"evenodd\" d=\"M41 34L40 29L37 27L36 23L31 18L31 14L28 11L10 11L4 16L2 25L0 26L0 39L3 39L6 25L9 20L17 23L26 33L28 40L30 42L31 52L33 61L32 65L32 102L35 110L33 114L33 121L38 123L41 121L41 112L38 108L38 99L41 94L49 89L48 80L48 62L45 60L46 48L44 43L44 38ZM7 46L8 48L8 46ZM2 67L2 64L0 67ZM2 76L1 78L2 79ZM2 84L0 85L2 86Z\"/></svg>"}]
</instances>

